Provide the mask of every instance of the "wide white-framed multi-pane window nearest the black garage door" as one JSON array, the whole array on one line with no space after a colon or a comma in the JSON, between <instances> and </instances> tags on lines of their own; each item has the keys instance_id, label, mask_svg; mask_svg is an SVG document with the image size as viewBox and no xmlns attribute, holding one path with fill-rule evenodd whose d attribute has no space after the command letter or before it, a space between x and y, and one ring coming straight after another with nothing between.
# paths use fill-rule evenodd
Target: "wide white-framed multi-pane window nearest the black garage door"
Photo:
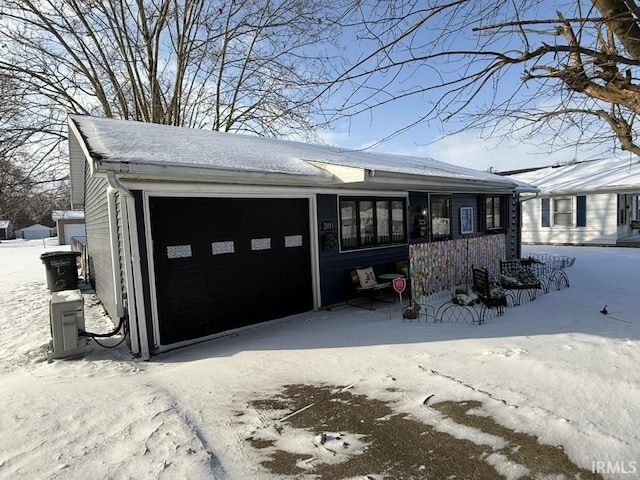
<instances>
[{"instance_id":1,"label":"wide white-framed multi-pane window nearest the black garage door","mask_svg":"<svg viewBox=\"0 0 640 480\"><path fill-rule=\"evenodd\" d=\"M341 198L340 242L343 250L406 241L406 201L390 198Z\"/></svg>"}]
</instances>

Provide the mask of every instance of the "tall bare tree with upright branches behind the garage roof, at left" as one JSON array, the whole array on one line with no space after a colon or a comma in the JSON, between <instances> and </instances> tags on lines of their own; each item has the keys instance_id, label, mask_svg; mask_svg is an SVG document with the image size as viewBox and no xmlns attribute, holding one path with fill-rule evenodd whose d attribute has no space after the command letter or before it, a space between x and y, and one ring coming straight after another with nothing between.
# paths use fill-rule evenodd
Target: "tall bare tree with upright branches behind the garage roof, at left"
<instances>
[{"instance_id":1,"label":"tall bare tree with upright branches behind the garage roof, at left","mask_svg":"<svg viewBox=\"0 0 640 480\"><path fill-rule=\"evenodd\" d=\"M22 145L14 162L38 179L65 170L69 112L309 135L348 3L3 0L0 76L16 82L21 109L2 134Z\"/></svg>"}]
</instances>

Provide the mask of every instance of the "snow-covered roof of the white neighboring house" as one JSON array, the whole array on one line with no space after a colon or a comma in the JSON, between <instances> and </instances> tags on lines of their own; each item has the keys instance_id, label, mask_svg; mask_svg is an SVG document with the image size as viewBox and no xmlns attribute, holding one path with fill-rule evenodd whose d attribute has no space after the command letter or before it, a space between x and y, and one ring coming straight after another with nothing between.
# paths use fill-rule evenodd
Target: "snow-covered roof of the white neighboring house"
<instances>
[{"instance_id":1,"label":"snow-covered roof of the white neighboring house","mask_svg":"<svg viewBox=\"0 0 640 480\"><path fill-rule=\"evenodd\" d=\"M599 190L640 190L640 163L611 158L546 167L507 175L535 185L543 194L591 192Z\"/></svg>"}]
</instances>

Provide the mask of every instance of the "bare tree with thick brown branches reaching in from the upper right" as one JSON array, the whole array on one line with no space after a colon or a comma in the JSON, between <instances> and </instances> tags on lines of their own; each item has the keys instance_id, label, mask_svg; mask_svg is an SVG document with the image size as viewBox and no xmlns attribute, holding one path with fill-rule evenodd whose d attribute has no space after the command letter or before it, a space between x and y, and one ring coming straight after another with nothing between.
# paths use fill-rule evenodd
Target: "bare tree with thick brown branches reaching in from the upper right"
<instances>
[{"instance_id":1,"label":"bare tree with thick brown branches reaching in from the upper right","mask_svg":"<svg viewBox=\"0 0 640 480\"><path fill-rule=\"evenodd\" d=\"M549 149L607 142L640 154L633 0L365 0L350 25L370 53L323 92L350 92L334 118L413 98L422 113L390 137L448 122L525 141L547 135Z\"/></svg>"}]
</instances>

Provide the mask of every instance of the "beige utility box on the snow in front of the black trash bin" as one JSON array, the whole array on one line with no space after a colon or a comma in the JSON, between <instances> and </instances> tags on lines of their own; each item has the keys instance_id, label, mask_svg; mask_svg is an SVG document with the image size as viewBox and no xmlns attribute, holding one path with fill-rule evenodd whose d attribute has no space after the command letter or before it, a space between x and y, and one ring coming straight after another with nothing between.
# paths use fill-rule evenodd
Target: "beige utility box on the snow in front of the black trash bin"
<instances>
[{"instance_id":1,"label":"beige utility box on the snow in front of the black trash bin","mask_svg":"<svg viewBox=\"0 0 640 480\"><path fill-rule=\"evenodd\" d=\"M86 352L84 332L84 299L80 290L62 290L51 294L51 337L53 352L50 359L77 357Z\"/></svg>"}]
</instances>

